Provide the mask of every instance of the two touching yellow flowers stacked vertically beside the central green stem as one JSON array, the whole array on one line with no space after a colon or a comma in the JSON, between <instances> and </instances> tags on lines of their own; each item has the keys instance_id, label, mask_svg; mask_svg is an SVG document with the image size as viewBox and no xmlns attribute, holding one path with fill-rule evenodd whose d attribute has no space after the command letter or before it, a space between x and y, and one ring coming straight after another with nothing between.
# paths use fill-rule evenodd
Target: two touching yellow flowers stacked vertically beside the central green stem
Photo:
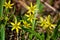
<instances>
[{"instance_id":1,"label":"two touching yellow flowers stacked vertically beside the central green stem","mask_svg":"<svg viewBox=\"0 0 60 40\"><path fill-rule=\"evenodd\" d=\"M25 14L25 16L26 17L28 17L28 21L30 21L30 22L32 22L35 18L34 18L34 12L37 10L37 8L36 8L36 6L37 5L32 5L32 2L30 3L30 6L31 7L29 7L29 6L27 6L27 9L28 9L28 12L27 12L27 14Z\"/></svg>"}]
</instances>

